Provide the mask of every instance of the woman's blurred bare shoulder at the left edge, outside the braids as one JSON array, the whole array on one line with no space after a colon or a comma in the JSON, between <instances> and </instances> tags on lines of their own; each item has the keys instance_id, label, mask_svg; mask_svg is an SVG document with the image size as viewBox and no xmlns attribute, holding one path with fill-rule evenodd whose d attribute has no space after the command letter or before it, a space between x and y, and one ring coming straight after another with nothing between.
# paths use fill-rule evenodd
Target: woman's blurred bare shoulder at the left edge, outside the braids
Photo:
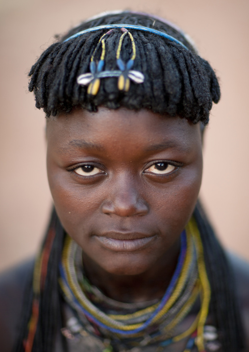
<instances>
[{"instance_id":1,"label":"woman's blurred bare shoulder at the left edge, outside the braids","mask_svg":"<svg viewBox=\"0 0 249 352\"><path fill-rule=\"evenodd\" d=\"M34 259L0 273L0 346L10 352L18 332L25 286L32 277Z\"/></svg>"}]
</instances>

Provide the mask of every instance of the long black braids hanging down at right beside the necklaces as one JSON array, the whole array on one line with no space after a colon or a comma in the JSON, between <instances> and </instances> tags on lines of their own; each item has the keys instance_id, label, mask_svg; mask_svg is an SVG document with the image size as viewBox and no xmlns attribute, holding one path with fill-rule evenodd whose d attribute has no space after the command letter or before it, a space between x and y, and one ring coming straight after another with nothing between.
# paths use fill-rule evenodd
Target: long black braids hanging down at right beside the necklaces
<instances>
[{"instance_id":1,"label":"long black braids hanging down at right beside the necklaces","mask_svg":"<svg viewBox=\"0 0 249 352\"><path fill-rule=\"evenodd\" d=\"M200 202L197 203L194 217L200 231L211 286L210 313L221 332L222 350L242 351L244 347L243 327L230 265Z\"/></svg>"}]
</instances>

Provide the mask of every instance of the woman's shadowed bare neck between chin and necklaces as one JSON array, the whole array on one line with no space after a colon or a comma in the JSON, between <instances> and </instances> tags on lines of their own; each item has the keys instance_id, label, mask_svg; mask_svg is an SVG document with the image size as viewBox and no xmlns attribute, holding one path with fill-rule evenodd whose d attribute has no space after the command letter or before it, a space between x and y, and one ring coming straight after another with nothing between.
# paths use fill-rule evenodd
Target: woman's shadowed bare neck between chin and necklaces
<instances>
[{"instance_id":1,"label":"woman's shadowed bare neck between chin and necklaces","mask_svg":"<svg viewBox=\"0 0 249 352\"><path fill-rule=\"evenodd\" d=\"M180 251L180 240L170 253L158 258L155 265L139 275L114 275L106 272L91 258L82 254L85 274L91 284L118 302L147 302L161 299L171 281Z\"/></svg>"}]
</instances>

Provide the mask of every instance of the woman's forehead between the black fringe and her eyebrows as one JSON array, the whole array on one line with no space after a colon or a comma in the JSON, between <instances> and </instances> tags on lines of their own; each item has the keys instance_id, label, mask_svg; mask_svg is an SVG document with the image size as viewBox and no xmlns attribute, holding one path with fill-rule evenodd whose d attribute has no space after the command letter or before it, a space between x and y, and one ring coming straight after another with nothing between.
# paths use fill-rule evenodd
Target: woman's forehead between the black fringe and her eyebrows
<instances>
[{"instance_id":1,"label":"woman's forehead between the black fringe and her eyebrows","mask_svg":"<svg viewBox=\"0 0 249 352\"><path fill-rule=\"evenodd\" d=\"M160 115L149 110L110 110L100 107L98 112L75 109L70 114L61 114L48 119L49 145L68 148L95 145L100 148L115 148L122 143L149 148L150 145L167 144L188 149L199 144L200 128L186 119Z\"/></svg>"}]
</instances>

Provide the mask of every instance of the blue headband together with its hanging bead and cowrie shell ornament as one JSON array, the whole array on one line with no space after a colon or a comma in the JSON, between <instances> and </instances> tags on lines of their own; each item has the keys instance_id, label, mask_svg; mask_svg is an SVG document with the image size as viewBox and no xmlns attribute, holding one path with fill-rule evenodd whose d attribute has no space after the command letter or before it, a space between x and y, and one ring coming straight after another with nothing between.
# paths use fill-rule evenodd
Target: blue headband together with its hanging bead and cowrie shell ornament
<instances>
[{"instance_id":1,"label":"blue headband together with its hanging bead and cowrie shell ornament","mask_svg":"<svg viewBox=\"0 0 249 352\"><path fill-rule=\"evenodd\" d=\"M114 28L120 28L121 32L123 33L120 37L118 49L116 52L116 63L119 70L104 70L105 40L106 40L106 37L114 30ZM135 46L134 38L127 28L142 30L145 32L157 34L161 37L167 38L168 40L174 43L179 44L184 49L189 50L182 42L175 39L171 35L161 32L159 30L149 28L149 27L144 27L141 25L128 25L128 24L100 25L97 27L88 28L78 33L75 33L71 37L67 38L64 42L67 42L73 38L77 38L85 33L95 32L101 29L110 29L108 32L106 32L100 37L99 43L97 44L97 47L95 48L92 54L91 62L90 62L90 72L79 75L77 77L77 83L79 85L82 85L82 86L88 85L87 93L89 95L93 95L93 96L97 95L100 88L100 78L118 77L118 89L120 91L125 91L125 92L128 92L129 90L130 80L138 84L144 82L144 79L145 79L144 75L139 71L132 70L134 60L136 58L136 46ZM124 38L127 35L129 36L131 41L132 55L131 55L131 58L125 63L121 59L121 50L122 50L122 44L123 44ZM100 45L101 45L102 51L100 55L100 60L98 61L95 59L95 56L96 56L97 50L100 48Z\"/></svg>"}]
</instances>

